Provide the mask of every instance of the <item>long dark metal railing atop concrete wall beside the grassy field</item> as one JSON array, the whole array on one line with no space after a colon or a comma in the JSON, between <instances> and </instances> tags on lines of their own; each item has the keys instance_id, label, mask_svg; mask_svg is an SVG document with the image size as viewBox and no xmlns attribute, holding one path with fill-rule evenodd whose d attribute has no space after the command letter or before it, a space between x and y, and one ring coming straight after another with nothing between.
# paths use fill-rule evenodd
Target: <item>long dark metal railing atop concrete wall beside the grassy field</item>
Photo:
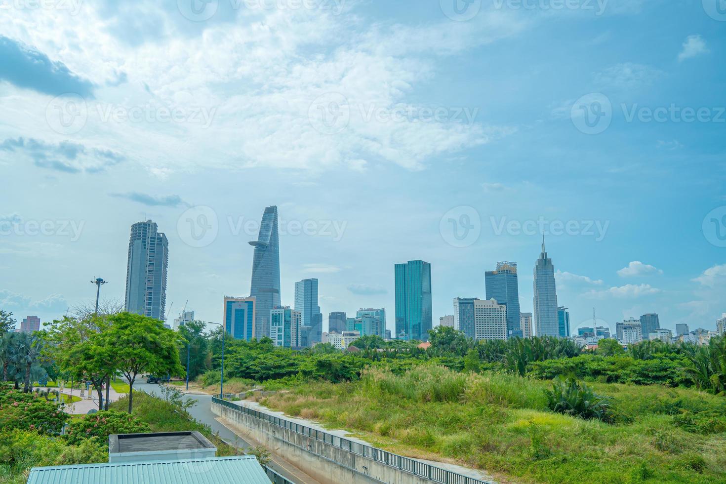
<instances>
[{"instance_id":1,"label":"long dark metal railing atop concrete wall beside the grassy field","mask_svg":"<svg viewBox=\"0 0 726 484\"><path fill-rule=\"evenodd\" d=\"M342 448L353 454L364 456L367 459L372 459L380 464L385 464L390 467L396 467L405 472L410 472L413 475L424 477L425 479L431 480L435 483L441 484L492 484L491 481L479 480L474 477L468 477L466 475L459 474L458 472L452 472L450 470L441 469L441 467L432 466L425 462L417 461L416 459L409 459L408 457L399 456L399 454L393 454L383 449L366 446L365 444L354 442L353 440L338 437L322 430L317 430L306 425L301 425L295 422L291 422L287 419L281 419L280 417L274 417L274 415L266 414L261 411L248 409L245 406L236 405L232 402L221 400L218 396L212 396L213 403L219 403L219 405L226 406L229 409L238 411L241 414L250 415L256 419L270 422L271 424L277 425L286 430L291 430L295 433L305 435L315 440L330 444L333 447ZM310 451L310 448L306 448ZM342 462L337 464L345 465Z\"/></svg>"}]
</instances>

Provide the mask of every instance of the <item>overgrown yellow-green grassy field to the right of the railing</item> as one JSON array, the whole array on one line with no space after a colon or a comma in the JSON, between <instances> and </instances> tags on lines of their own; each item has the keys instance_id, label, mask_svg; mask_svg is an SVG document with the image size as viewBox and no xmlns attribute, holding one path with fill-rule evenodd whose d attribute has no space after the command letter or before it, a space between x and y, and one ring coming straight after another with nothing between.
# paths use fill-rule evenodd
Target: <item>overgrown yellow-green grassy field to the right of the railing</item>
<instances>
[{"instance_id":1,"label":"overgrown yellow-green grassy field to the right of the railing","mask_svg":"<svg viewBox=\"0 0 726 484\"><path fill-rule=\"evenodd\" d=\"M262 403L389 451L484 469L502 482L726 483L726 398L592 386L613 397L613 424L549 411L543 390L551 382L433 366L298 385Z\"/></svg>"}]
</instances>

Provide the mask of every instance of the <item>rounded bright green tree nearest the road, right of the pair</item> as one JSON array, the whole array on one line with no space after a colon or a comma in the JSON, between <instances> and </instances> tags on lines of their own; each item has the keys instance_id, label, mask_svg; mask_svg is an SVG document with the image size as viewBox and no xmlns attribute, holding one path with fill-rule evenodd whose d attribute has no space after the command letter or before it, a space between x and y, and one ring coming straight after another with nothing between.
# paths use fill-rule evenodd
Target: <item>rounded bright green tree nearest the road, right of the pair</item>
<instances>
[{"instance_id":1,"label":"rounded bright green tree nearest the road, right of the pair","mask_svg":"<svg viewBox=\"0 0 726 484\"><path fill-rule=\"evenodd\" d=\"M118 370L129 381L129 414L134 406L134 382L142 372L184 374L179 364L179 335L158 319L118 313L102 332L102 346L113 348Z\"/></svg>"}]
</instances>

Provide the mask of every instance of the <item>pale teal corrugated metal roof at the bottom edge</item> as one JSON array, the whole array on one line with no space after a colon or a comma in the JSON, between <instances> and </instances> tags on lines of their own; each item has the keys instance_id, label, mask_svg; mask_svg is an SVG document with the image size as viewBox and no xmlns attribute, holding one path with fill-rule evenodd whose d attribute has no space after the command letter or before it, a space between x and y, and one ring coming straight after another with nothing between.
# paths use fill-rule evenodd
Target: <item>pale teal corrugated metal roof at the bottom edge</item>
<instances>
[{"instance_id":1,"label":"pale teal corrugated metal roof at the bottom edge","mask_svg":"<svg viewBox=\"0 0 726 484\"><path fill-rule=\"evenodd\" d=\"M255 456L33 467L28 484L269 484Z\"/></svg>"}]
</instances>

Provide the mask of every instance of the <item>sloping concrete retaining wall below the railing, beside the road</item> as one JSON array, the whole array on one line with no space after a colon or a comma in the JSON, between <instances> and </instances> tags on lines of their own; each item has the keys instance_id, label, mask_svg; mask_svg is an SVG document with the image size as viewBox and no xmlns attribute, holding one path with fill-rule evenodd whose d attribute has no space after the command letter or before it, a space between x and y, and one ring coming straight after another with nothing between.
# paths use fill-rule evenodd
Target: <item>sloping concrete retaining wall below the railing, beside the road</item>
<instances>
[{"instance_id":1,"label":"sloping concrete retaining wall below the railing, beside the road","mask_svg":"<svg viewBox=\"0 0 726 484\"><path fill-rule=\"evenodd\" d=\"M321 483L431 484L432 482L403 469L376 462L345 448L282 428L219 403L212 402L211 410L213 414L245 430L250 438L257 440L282 459L292 462Z\"/></svg>"}]
</instances>

